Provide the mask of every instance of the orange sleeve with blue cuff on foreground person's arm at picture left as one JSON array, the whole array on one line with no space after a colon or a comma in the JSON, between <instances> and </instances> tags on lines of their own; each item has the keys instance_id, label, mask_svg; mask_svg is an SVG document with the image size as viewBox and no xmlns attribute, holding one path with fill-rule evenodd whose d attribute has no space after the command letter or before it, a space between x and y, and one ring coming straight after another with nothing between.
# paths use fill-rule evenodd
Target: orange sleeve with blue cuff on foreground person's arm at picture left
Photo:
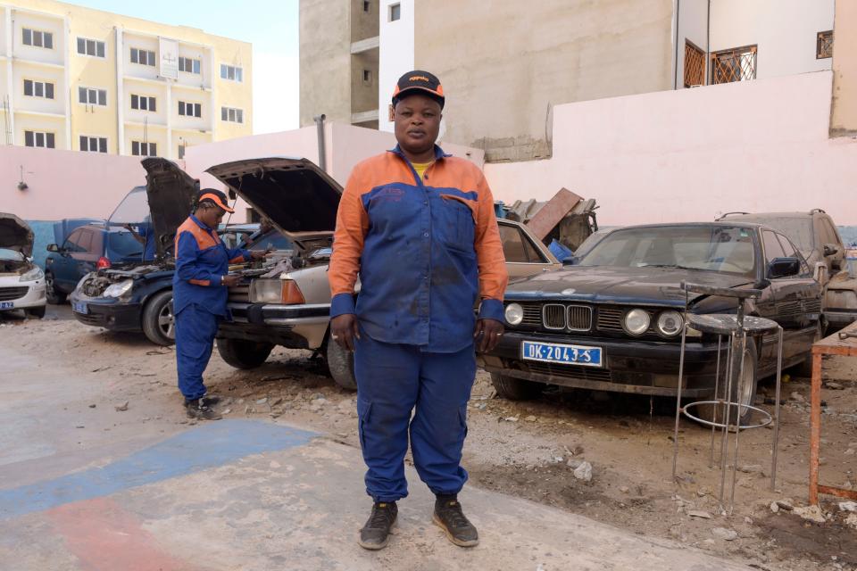
<instances>
[{"instance_id":1,"label":"orange sleeve with blue cuff on foreground person's arm at picture left","mask_svg":"<svg viewBox=\"0 0 857 571\"><path fill-rule=\"evenodd\" d=\"M330 255L330 317L354 313L354 284L360 271L363 239L369 230L369 215L363 208L362 176L355 168L337 210L337 230Z\"/></svg>"}]
</instances>

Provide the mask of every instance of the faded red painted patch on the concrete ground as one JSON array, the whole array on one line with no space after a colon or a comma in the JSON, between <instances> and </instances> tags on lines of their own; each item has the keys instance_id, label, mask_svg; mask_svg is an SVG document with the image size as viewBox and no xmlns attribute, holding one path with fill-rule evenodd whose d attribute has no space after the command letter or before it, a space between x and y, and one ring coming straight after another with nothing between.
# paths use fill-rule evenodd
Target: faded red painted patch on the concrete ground
<instances>
[{"instance_id":1,"label":"faded red painted patch on the concrete ground","mask_svg":"<svg viewBox=\"0 0 857 571\"><path fill-rule=\"evenodd\" d=\"M46 512L82 571L196 571L160 549L137 517L110 498L65 504Z\"/></svg>"}]
</instances>

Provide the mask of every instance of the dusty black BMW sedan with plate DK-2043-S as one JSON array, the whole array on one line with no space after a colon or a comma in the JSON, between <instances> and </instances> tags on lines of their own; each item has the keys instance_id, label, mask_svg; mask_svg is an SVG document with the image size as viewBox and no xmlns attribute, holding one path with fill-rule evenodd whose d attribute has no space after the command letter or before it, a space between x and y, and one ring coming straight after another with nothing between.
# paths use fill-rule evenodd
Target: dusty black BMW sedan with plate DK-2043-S
<instances>
[{"instance_id":1,"label":"dusty black BMW sedan with plate DK-2043-S","mask_svg":"<svg viewBox=\"0 0 857 571\"><path fill-rule=\"evenodd\" d=\"M820 335L821 287L786 236L757 224L691 223L612 230L578 264L512 282L506 334L479 356L497 393L520 400L545 385L674 396L684 327L682 282L759 288L747 315L784 328L784 366L801 363ZM688 311L731 313L734 298L690 294ZM688 397L713 394L718 340L689 330ZM744 394L776 368L776 336L748 343ZM713 411L711 411L713 414Z\"/></svg>"}]
</instances>

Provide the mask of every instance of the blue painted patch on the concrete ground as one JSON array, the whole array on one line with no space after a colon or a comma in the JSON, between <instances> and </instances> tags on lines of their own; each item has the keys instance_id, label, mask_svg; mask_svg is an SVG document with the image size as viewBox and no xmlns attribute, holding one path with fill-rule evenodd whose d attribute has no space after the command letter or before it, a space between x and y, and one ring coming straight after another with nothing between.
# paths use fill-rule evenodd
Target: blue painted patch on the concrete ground
<instances>
[{"instance_id":1,"label":"blue painted patch on the concrete ground","mask_svg":"<svg viewBox=\"0 0 857 571\"><path fill-rule=\"evenodd\" d=\"M318 434L258 420L206 423L102 468L0 490L0 519L186 476L251 454L301 446L315 436Z\"/></svg>"}]
</instances>

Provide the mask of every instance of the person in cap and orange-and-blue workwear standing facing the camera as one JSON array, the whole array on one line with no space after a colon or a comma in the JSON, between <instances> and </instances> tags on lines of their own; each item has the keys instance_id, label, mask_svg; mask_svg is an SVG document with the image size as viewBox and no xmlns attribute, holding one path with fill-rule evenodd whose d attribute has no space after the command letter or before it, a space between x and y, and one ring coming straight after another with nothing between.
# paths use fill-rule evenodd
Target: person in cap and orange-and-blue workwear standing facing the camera
<instances>
[{"instance_id":1,"label":"person in cap and orange-and-blue workwear standing facing the camera","mask_svg":"<svg viewBox=\"0 0 857 571\"><path fill-rule=\"evenodd\" d=\"M432 520L454 544L478 543L457 495L467 480L467 401L474 340L490 351L503 335L508 276L482 171L435 145L444 103L432 74L415 70L399 79L398 145L354 167L337 213L330 330L354 350L366 491L374 501L359 543L370 550L387 545L395 502L408 494L409 434L417 473L437 496Z\"/></svg>"}]
</instances>

